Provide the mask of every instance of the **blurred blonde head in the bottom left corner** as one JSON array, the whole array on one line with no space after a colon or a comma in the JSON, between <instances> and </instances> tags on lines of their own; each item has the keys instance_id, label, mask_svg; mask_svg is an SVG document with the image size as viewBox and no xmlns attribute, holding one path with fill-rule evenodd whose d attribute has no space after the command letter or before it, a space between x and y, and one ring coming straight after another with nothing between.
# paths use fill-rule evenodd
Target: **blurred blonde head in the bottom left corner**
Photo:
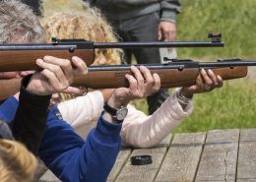
<instances>
[{"instance_id":1,"label":"blurred blonde head in the bottom left corner","mask_svg":"<svg viewBox=\"0 0 256 182\"><path fill-rule=\"evenodd\" d=\"M13 141L8 125L0 120L1 182L30 182L36 166L33 154L22 144Z\"/></svg>"}]
</instances>

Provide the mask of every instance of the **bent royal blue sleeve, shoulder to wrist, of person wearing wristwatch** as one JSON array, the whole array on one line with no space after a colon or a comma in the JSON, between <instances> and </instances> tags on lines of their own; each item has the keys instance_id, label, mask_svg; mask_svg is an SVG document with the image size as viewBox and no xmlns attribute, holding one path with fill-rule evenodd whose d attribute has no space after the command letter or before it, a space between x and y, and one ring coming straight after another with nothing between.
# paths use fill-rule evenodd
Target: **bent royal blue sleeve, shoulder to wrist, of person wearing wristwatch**
<instances>
[{"instance_id":1,"label":"bent royal blue sleeve, shoulder to wrist, of person wearing wristwatch","mask_svg":"<svg viewBox=\"0 0 256 182\"><path fill-rule=\"evenodd\" d=\"M84 141L61 119L55 106L48 115L39 156L64 182L104 182L121 146L120 130L120 124L100 116Z\"/></svg>"}]
</instances>

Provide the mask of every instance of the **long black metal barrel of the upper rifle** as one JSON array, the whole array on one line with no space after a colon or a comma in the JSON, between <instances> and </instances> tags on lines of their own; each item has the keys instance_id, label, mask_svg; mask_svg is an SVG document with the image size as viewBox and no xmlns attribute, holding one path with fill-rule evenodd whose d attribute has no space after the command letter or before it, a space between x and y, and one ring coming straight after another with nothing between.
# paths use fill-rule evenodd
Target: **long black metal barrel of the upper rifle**
<instances>
[{"instance_id":1,"label":"long black metal barrel of the upper rifle","mask_svg":"<svg viewBox=\"0 0 256 182\"><path fill-rule=\"evenodd\" d=\"M156 47L223 47L223 41L128 41L93 42L63 39L57 43L0 44L0 51L15 50L75 50L94 48L156 48Z\"/></svg>"}]
</instances>

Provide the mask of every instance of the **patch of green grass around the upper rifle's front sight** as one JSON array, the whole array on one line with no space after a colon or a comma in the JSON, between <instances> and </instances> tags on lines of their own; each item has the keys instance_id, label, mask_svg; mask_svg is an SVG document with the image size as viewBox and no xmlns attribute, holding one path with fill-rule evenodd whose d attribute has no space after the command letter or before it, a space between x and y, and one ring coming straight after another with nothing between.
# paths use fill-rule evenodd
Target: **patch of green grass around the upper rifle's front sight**
<instances>
[{"instance_id":1,"label":"patch of green grass around the upper rifle's front sight","mask_svg":"<svg viewBox=\"0 0 256 182\"><path fill-rule=\"evenodd\" d=\"M180 48L179 57L256 58L255 0L180 0L179 40L207 40L208 31L223 32L224 48Z\"/></svg>"}]
</instances>

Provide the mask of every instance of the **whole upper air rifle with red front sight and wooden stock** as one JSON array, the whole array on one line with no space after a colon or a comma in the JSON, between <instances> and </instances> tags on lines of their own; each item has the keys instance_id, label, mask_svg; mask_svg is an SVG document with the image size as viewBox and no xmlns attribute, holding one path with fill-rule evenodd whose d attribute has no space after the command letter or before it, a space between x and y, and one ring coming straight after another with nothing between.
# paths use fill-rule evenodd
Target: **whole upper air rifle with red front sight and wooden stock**
<instances>
[{"instance_id":1,"label":"whole upper air rifle with red front sight and wooden stock","mask_svg":"<svg viewBox=\"0 0 256 182\"><path fill-rule=\"evenodd\" d=\"M156 48L156 47L223 47L221 33L208 35L211 41L143 41L93 42L84 39L57 39L46 44L0 44L0 72L38 69L35 60L45 55L62 59L78 56L91 65L96 48Z\"/></svg>"}]
</instances>

